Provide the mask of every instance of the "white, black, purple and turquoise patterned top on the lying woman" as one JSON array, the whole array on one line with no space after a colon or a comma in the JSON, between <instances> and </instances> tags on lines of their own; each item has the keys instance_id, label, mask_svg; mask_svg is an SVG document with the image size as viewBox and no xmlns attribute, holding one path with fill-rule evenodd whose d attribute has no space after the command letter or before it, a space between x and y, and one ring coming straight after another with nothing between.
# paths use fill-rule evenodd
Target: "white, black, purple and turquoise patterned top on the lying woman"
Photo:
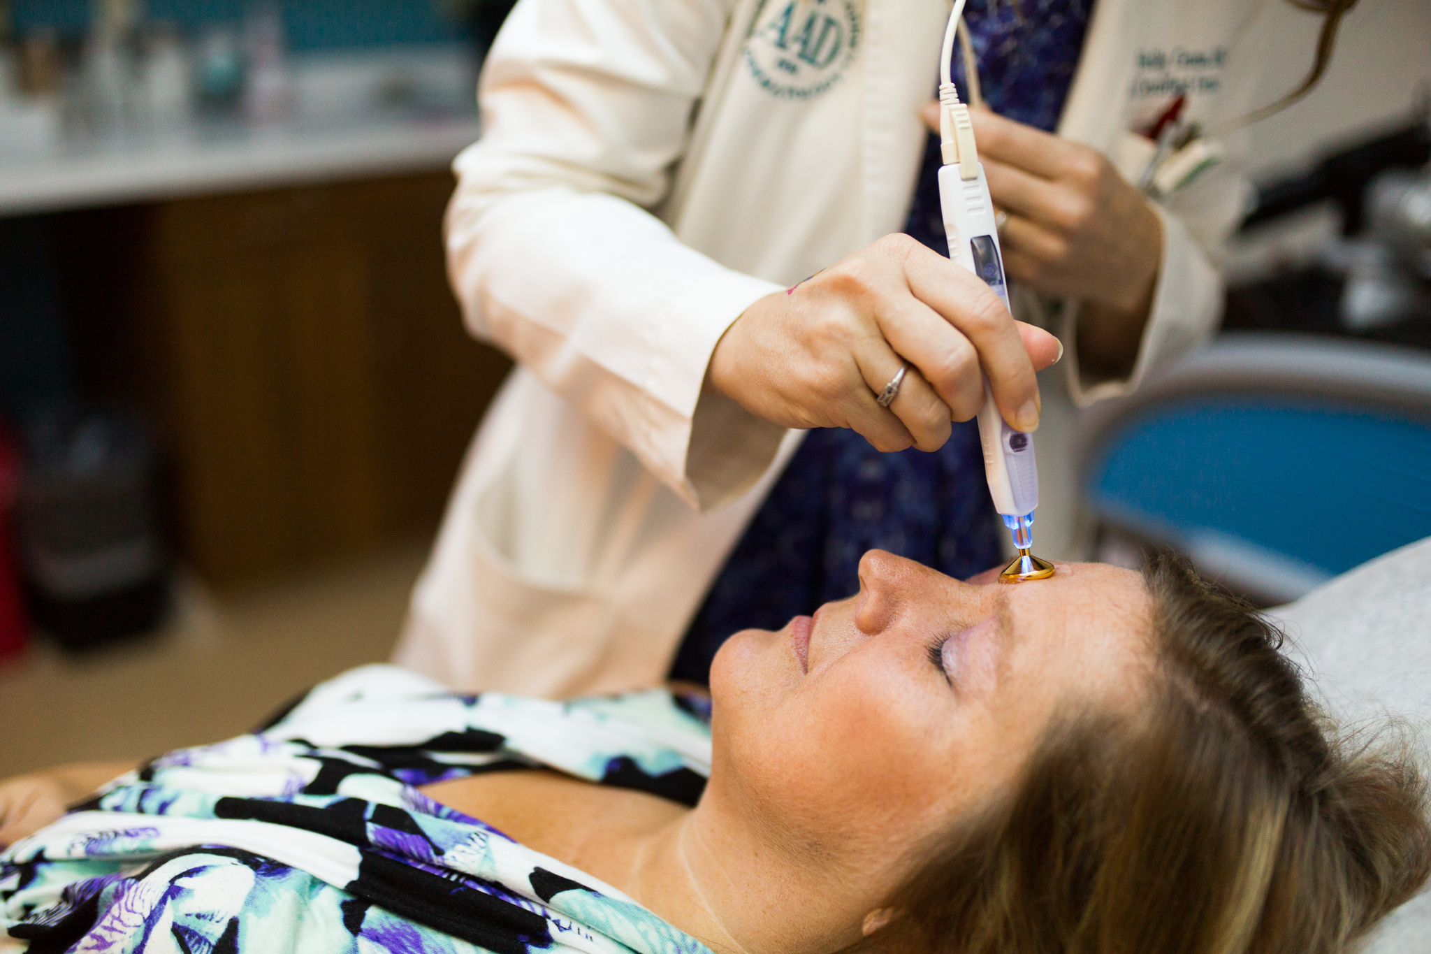
<instances>
[{"instance_id":1,"label":"white, black, purple and turquoise patterned top on the lying woman","mask_svg":"<svg viewBox=\"0 0 1431 954\"><path fill-rule=\"evenodd\" d=\"M454 695L394 667L170 752L0 855L0 950L708 954L621 891L419 785L550 768L691 805L698 701Z\"/></svg>"}]
</instances>

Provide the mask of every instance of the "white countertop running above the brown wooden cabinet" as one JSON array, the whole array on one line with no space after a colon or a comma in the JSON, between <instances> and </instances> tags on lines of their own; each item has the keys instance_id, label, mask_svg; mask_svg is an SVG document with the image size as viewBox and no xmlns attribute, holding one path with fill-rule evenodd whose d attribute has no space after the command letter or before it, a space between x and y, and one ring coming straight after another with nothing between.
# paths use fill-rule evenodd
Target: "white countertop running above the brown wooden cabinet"
<instances>
[{"instance_id":1,"label":"white countertop running above the brown wooden cabinet","mask_svg":"<svg viewBox=\"0 0 1431 954\"><path fill-rule=\"evenodd\" d=\"M435 170L475 139L475 117L392 117L338 127L235 124L54 154L0 153L0 215Z\"/></svg>"}]
</instances>

